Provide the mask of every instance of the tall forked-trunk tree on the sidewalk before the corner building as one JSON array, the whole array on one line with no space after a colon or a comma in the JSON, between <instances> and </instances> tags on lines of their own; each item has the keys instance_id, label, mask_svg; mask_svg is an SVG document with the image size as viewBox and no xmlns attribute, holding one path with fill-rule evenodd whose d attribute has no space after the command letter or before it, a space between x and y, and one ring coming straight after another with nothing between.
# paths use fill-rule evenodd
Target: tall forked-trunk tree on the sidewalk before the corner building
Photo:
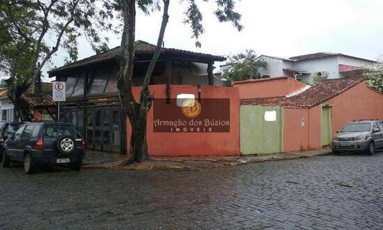
<instances>
[{"instance_id":1,"label":"tall forked-trunk tree on the sidewalk before the corner building","mask_svg":"<svg viewBox=\"0 0 383 230\"><path fill-rule=\"evenodd\" d=\"M154 96L149 91L150 78L158 59L164 33L169 20L169 3L171 0L120 0L120 10L123 16L123 36L121 39L120 71L118 73L118 93L123 111L129 118L132 126L130 138L130 162L141 162L148 159L148 144L146 141L146 118L152 105ZM208 1L208 0L204 0ZM183 22L192 29L192 38L196 39L196 46L201 47L198 37L203 33L202 14L198 8L197 0L174 1L174 4L186 3L185 19ZM234 10L235 0L215 0L217 10L214 15L219 22L232 22L238 31L242 30L241 15ZM150 61L148 70L143 80L139 100L132 93L132 77L134 67L134 40L136 28L136 6L148 13L148 8L159 9L162 6L162 23L157 39L157 48ZM124 131L125 132L125 131ZM126 134L123 134L123 138Z\"/></svg>"}]
</instances>

